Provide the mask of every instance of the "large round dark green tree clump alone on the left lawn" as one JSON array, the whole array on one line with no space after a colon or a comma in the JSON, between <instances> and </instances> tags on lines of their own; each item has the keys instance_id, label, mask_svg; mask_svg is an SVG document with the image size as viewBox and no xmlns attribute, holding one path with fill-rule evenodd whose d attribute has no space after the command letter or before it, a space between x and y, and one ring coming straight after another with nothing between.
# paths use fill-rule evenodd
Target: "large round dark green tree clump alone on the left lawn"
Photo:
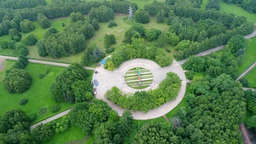
<instances>
[{"instance_id":1,"label":"large round dark green tree clump alone on the left lawn","mask_svg":"<svg viewBox=\"0 0 256 144\"><path fill-rule=\"evenodd\" d=\"M9 93L22 93L31 85L30 74L23 69L10 70L3 80L3 86Z\"/></svg>"}]
</instances>

